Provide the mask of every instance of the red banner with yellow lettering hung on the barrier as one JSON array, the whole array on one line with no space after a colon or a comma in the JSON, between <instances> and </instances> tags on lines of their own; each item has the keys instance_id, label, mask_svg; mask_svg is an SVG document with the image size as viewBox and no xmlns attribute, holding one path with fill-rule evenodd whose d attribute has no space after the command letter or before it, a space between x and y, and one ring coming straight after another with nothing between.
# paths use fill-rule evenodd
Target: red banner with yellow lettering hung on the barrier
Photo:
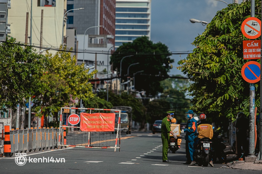
<instances>
[{"instance_id":1,"label":"red banner with yellow lettering hung on the barrier","mask_svg":"<svg viewBox=\"0 0 262 174\"><path fill-rule=\"evenodd\" d=\"M115 130L115 113L80 113L80 130L107 132Z\"/></svg>"}]
</instances>

